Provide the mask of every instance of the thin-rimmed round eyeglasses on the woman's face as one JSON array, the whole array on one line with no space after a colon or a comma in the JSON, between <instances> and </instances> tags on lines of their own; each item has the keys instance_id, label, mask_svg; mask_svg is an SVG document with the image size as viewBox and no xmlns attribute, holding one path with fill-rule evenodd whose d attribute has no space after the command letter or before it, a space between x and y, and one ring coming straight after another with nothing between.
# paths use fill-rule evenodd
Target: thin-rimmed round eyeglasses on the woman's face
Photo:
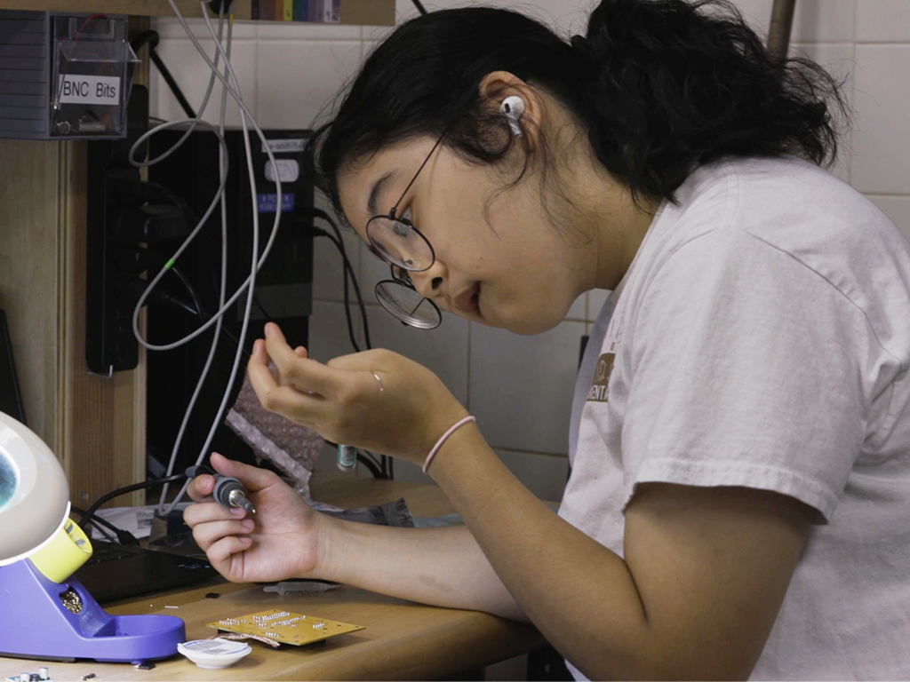
<instances>
[{"instance_id":1,"label":"thin-rimmed round eyeglasses on the woman's face","mask_svg":"<svg viewBox=\"0 0 910 682\"><path fill-rule=\"evenodd\" d=\"M421 235L410 220L398 216L398 209L444 136L445 132L430 149L430 154L420 164L389 215L373 216L367 223L370 249L391 266L391 278L383 279L376 285L376 298L391 315L404 324L419 329L435 329L440 326L442 314L439 306L429 298L420 296L408 273L429 270L436 262L436 254L427 237Z\"/></svg>"}]
</instances>

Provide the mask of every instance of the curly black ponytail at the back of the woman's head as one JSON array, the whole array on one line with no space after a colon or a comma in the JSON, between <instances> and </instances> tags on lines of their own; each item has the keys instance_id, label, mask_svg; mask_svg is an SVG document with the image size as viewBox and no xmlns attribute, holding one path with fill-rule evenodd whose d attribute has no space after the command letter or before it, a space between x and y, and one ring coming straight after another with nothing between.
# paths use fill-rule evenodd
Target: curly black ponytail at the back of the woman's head
<instances>
[{"instance_id":1,"label":"curly black ponytail at the back of the woman's head","mask_svg":"<svg viewBox=\"0 0 910 682\"><path fill-rule=\"evenodd\" d=\"M672 199L723 156L836 157L840 86L807 59L775 64L733 5L604 0L571 45L593 65L575 114L633 194Z\"/></svg>"}]
</instances>

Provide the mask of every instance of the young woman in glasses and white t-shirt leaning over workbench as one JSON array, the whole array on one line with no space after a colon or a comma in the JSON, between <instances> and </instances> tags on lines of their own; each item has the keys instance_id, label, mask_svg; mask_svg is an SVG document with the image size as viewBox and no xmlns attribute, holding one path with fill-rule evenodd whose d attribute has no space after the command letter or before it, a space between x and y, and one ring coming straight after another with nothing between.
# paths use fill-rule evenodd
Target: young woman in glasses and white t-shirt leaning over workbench
<instances>
[{"instance_id":1,"label":"young woman in glasses and white t-shirt leaning over workbench","mask_svg":"<svg viewBox=\"0 0 910 682\"><path fill-rule=\"evenodd\" d=\"M819 167L839 113L717 3L604 0L571 43L491 8L399 26L313 138L319 181L416 324L536 334L612 290L559 514L426 368L322 365L268 325L262 404L428 466L464 526L340 522L212 456L258 515L199 476L199 545L235 581L530 621L576 677L910 676L910 247Z\"/></svg>"}]
</instances>

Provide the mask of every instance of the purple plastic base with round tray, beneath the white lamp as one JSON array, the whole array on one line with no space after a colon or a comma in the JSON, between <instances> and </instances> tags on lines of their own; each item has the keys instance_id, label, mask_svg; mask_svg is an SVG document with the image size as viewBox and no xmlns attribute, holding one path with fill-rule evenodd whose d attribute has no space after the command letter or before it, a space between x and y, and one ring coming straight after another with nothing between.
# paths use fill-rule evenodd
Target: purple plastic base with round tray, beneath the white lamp
<instances>
[{"instance_id":1,"label":"purple plastic base with round tray, beneath the white lamp","mask_svg":"<svg viewBox=\"0 0 910 682\"><path fill-rule=\"evenodd\" d=\"M0 605L0 656L139 664L187 638L180 618L111 616L78 580L51 582L28 559L0 567Z\"/></svg>"}]
</instances>

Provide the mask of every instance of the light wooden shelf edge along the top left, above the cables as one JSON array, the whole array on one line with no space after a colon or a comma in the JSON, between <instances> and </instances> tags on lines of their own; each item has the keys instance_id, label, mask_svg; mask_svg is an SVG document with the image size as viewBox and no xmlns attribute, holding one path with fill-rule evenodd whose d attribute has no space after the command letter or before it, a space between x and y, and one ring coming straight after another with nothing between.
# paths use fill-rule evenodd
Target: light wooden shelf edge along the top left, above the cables
<instances>
[{"instance_id":1,"label":"light wooden shelf edge along the top left, above the cables","mask_svg":"<svg viewBox=\"0 0 910 682\"><path fill-rule=\"evenodd\" d=\"M251 17L252 0L235 0L234 17ZM187 17L202 16L197 0L177 0ZM109 15L172 16L167 0L0 0L0 9L50 10L52 12L99 12ZM341 24L394 25L395 0L343 0Z\"/></svg>"}]
</instances>

